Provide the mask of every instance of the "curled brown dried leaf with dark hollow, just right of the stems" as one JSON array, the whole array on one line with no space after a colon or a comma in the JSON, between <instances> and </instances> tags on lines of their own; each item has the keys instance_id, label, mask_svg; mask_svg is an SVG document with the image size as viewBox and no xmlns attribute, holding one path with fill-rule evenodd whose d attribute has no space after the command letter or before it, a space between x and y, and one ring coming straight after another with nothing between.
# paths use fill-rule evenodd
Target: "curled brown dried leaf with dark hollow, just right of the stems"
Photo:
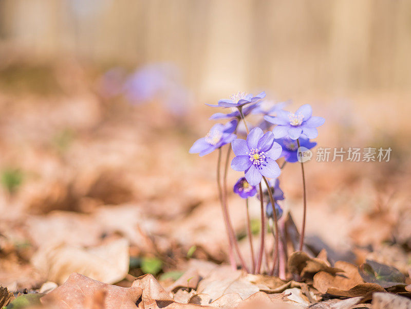
<instances>
[{"instance_id":1,"label":"curled brown dried leaf with dark hollow, just right of the stems","mask_svg":"<svg viewBox=\"0 0 411 309\"><path fill-rule=\"evenodd\" d=\"M288 260L288 269L292 274L298 274L302 277L312 277L313 274L320 271L326 271L330 274L337 274L343 270L331 267L328 262L321 259L310 258L303 251L295 251Z\"/></svg>"}]
</instances>

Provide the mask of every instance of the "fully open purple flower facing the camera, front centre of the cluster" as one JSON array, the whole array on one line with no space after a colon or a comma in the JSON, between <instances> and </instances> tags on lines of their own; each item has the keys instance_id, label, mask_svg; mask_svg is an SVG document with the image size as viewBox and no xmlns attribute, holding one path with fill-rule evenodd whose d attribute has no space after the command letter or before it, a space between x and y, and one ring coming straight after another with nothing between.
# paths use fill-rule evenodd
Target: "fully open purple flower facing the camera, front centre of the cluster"
<instances>
[{"instance_id":1,"label":"fully open purple flower facing the camera, front centre of the cluster","mask_svg":"<svg viewBox=\"0 0 411 309\"><path fill-rule=\"evenodd\" d=\"M231 146L236 155L231 161L235 171L245 171L250 185L256 186L263 176L277 178L281 173L275 161L281 155L281 146L274 141L271 131L266 134L260 128L254 128L244 139L235 139Z\"/></svg>"}]
</instances>

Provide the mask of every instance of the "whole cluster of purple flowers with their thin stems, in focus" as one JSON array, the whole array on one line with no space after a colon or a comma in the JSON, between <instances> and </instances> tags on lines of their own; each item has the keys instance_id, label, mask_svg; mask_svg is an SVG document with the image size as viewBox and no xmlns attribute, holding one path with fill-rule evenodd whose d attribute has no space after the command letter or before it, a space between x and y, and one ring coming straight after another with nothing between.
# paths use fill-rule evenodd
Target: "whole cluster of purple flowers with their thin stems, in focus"
<instances>
[{"instance_id":1,"label":"whole cluster of purple flowers with their thin stems, in focus","mask_svg":"<svg viewBox=\"0 0 411 309\"><path fill-rule=\"evenodd\" d=\"M229 99L219 100L217 104L207 104L212 107L231 109L230 113L227 114L213 114L210 118L211 120L230 119L231 121L226 124L215 124L210 132L205 137L194 142L190 149L190 153L199 153L200 156L209 154L216 149L219 150L217 183L230 244L229 257L233 269L236 269L233 250L233 248L236 248L235 251L241 262L241 266L246 271L249 271L244 259L242 259L240 251L238 250L227 207L228 192L226 192L226 173L231 150L234 153L234 157L231 160L231 168L237 172L244 172L234 184L233 191L246 200L249 241L253 261L251 269L254 273L260 271L264 252L264 224L266 220L264 219L264 216L267 216L272 220L269 222L274 222L275 230L272 229L275 237L274 252L278 252L278 233L280 231L278 230L277 221L281 219L283 215L283 208L278 204L278 201L285 199L284 192L279 187L278 177L286 162L297 162L298 155L300 155L302 149L311 149L316 146L316 142L311 141L310 139L317 137L318 131L316 128L325 122L325 119L322 117L312 116L312 108L309 104L302 105L295 113L292 113L283 110L289 102L273 104L267 100L263 101L265 96L265 92L261 92L256 96L238 92L237 94L230 96ZM260 120L256 122L257 124L250 124L250 122L246 121L246 117L249 115L251 118L259 117ZM247 131L247 133L244 134L245 136L242 136L241 129L238 126L241 122L244 124L242 128ZM251 131L249 131L249 125L250 128L252 128ZM238 135L238 138L236 135ZM221 148L229 143L231 143L231 149L227 148L228 153L224 169L225 176L223 177L223 184L221 184ZM280 168L277 161L281 160L281 158L284 158L284 162ZM304 241L306 212L303 163L301 163L301 168L304 183L304 219L301 232L300 250ZM253 196L256 196L259 199L261 205L261 245L258 258L255 261L250 231L250 217L248 213L248 201ZM276 260L274 259L270 274L274 271L275 265Z\"/></svg>"}]
</instances>

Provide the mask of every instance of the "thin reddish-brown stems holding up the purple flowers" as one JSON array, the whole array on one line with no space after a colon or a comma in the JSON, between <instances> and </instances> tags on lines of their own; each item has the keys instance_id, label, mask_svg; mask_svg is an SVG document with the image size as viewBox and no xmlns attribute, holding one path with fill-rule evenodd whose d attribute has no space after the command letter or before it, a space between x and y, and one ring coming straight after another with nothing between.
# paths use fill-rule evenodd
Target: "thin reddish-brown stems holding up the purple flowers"
<instances>
[{"instance_id":1,"label":"thin reddish-brown stems holding up the purple flowers","mask_svg":"<svg viewBox=\"0 0 411 309\"><path fill-rule=\"evenodd\" d=\"M242 113L242 107L238 107L238 111L241 116L241 120L244 122L247 134L250 133L248 129L247 122L245 120L244 114ZM297 139L297 144L298 148L300 148L300 141ZM220 167L221 167L221 148L218 149L218 161L217 161L217 187L218 187L218 195L221 203L221 208L222 208L222 213L223 213L223 219L225 221L226 225L226 232L227 232L227 237L229 240L229 260L230 264L233 268L233 270L237 269L237 264L236 264L236 258L234 255L234 250L235 253L237 253L237 257L240 261L241 267L249 272L249 269L244 261L244 258L242 258L241 252L238 247L238 242L236 235L234 233L233 226L231 224L230 220L230 213L228 211L228 205L227 205L227 173L228 173L228 163L230 160L230 154L231 154L231 147L228 147L227 151L227 156L226 156L226 162L225 162L225 169L223 173L223 186L221 186L221 180L220 180ZM282 166L284 167L285 162ZM303 200L304 200L304 212L303 212L303 225L302 225L302 230L301 230L301 237L300 237L300 251L303 250L303 245L304 245L304 233L305 233L305 221L306 221L306 210L307 210L307 203L306 203L306 184L305 184L305 175L304 175L304 165L303 162L301 162L301 170L302 170L302 176L303 176ZM275 271L275 266L278 260L278 254L279 254L279 233L278 233L278 223L277 223L277 214L275 211L275 199L273 197L271 187L266 179L265 176L263 176L263 180L266 184L269 199L271 206L273 208L273 221L274 221L274 231L273 231L273 236L274 236L274 248L273 248L273 255L272 255L272 267L269 270L269 275L272 276ZM261 208L261 237L260 237L260 248L258 251L258 256L257 256L257 261L255 261L254 257L254 248L253 248L253 241L252 241L252 232L251 232L251 223L250 223L250 213L249 213L249 203L248 203L248 198L246 199L246 209L247 209L247 233L248 233L248 238L250 242L250 251L251 251L251 260L252 260L252 267L251 270L253 274L258 274L260 272L261 268L261 262L263 260L263 255L264 255L264 245L265 245L265 211L264 211L264 198L263 198L263 189L261 187L261 182L259 183L259 194L260 194L260 208ZM281 266L281 265L279 265ZM280 267L279 267L280 268Z\"/></svg>"}]
</instances>

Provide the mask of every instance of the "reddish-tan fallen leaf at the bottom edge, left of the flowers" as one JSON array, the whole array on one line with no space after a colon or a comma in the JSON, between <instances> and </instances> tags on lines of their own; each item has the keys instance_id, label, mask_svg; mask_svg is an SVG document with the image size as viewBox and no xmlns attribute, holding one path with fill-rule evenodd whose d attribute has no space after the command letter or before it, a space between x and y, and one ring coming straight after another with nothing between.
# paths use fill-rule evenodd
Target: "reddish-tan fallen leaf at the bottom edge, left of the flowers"
<instances>
[{"instance_id":1,"label":"reddish-tan fallen leaf at the bottom edge, left of the flowers","mask_svg":"<svg viewBox=\"0 0 411 309\"><path fill-rule=\"evenodd\" d=\"M84 309L86 302L97 301L97 291L104 291L104 309L135 309L142 294L139 287L109 285L83 275L71 274L67 281L41 298L45 305L59 309Z\"/></svg>"}]
</instances>

